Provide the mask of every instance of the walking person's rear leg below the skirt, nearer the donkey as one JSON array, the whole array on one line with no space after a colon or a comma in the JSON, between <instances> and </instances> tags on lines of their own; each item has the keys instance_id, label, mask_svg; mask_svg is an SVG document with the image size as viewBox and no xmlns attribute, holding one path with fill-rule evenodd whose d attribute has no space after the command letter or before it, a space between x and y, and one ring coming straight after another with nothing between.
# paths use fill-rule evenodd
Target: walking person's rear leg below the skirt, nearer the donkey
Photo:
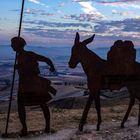
<instances>
[{"instance_id":1,"label":"walking person's rear leg below the skirt, nearer the donkey","mask_svg":"<svg viewBox=\"0 0 140 140\"><path fill-rule=\"evenodd\" d=\"M45 132L50 133L50 110L49 107L44 103L40 105L44 114L44 118L46 121Z\"/></svg>"}]
</instances>

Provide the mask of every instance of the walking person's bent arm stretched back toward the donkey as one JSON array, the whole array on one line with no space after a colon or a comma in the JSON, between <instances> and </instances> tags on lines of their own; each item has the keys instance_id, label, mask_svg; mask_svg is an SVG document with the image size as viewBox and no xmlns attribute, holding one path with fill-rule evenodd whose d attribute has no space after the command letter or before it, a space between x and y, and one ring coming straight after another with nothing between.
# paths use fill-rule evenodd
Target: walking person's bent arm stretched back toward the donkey
<instances>
[{"instance_id":1,"label":"walking person's bent arm stretched back toward the donkey","mask_svg":"<svg viewBox=\"0 0 140 140\"><path fill-rule=\"evenodd\" d=\"M51 59L49 59L48 57L42 56L42 55L38 55L38 54L35 54L35 57L38 61L46 62L50 66L49 70L51 72L55 71L55 68L54 68L54 65L53 65L53 62L51 61Z\"/></svg>"}]
</instances>

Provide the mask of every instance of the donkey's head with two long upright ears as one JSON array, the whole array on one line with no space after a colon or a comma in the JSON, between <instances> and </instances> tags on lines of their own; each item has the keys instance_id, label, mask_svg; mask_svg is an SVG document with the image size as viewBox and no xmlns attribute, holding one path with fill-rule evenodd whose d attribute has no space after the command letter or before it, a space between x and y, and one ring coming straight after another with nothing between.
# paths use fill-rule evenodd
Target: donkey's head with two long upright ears
<instances>
[{"instance_id":1,"label":"donkey's head with two long upright ears","mask_svg":"<svg viewBox=\"0 0 140 140\"><path fill-rule=\"evenodd\" d=\"M77 64L79 62L81 62L83 54L85 53L86 45L93 41L94 36L95 36L95 34L92 37L80 42L80 35L78 32L76 33L74 46L72 47L71 57L69 60L69 67L70 68L75 68L77 66Z\"/></svg>"}]
</instances>

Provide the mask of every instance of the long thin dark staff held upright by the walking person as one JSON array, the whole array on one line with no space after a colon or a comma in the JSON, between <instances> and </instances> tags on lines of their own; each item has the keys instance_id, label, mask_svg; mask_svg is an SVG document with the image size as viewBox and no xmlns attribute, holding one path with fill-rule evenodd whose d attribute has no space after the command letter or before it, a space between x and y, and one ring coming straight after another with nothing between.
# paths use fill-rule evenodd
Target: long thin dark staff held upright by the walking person
<instances>
[{"instance_id":1,"label":"long thin dark staff held upright by the walking person","mask_svg":"<svg viewBox=\"0 0 140 140\"><path fill-rule=\"evenodd\" d=\"M21 33L21 26L22 26L22 19L23 19L23 11L24 11L24 1L22 0L22 7L21 7L21 13L20 13L20 22L19 22L19 30L18 30L18 37L20 37ZM13 70L13 77L12 77L12 86L10 91L10 100L9 100L9 107L8 107L8 113L7 113L7 121L6 121L6 128L5 128L5 134L4 136L7 136L8 132L8 124L9 124L9 118L10 118L10 111L11 111L11 104L12 104L12 96L13 96L13 89L14 89L14 82L15 82L15 74L16 74L16 63L17 63L17 53L15 55L15 62L14 62L14 70Z\"/></svg>"}]
</instances>

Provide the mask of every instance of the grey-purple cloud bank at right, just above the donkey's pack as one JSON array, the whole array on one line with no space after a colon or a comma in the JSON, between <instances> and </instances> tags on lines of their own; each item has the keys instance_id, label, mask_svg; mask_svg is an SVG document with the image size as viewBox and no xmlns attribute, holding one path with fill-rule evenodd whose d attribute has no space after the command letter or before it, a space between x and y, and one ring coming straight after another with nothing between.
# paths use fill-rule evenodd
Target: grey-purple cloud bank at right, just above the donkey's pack
<instances>
[{"instance_id":1,"label":"grey-purple cloud bank at right, just above the donkey's pack","mask_svg":"<svg viewBox=\"0 0 140 140\"><path fill-rule=\"evenodd\" d=\"M105 36L121 36L130 38L139 38L140 36L140 18L125 19L122 21L98 22L94 30L98 34Z\"/></svg>"}]
</instances>

